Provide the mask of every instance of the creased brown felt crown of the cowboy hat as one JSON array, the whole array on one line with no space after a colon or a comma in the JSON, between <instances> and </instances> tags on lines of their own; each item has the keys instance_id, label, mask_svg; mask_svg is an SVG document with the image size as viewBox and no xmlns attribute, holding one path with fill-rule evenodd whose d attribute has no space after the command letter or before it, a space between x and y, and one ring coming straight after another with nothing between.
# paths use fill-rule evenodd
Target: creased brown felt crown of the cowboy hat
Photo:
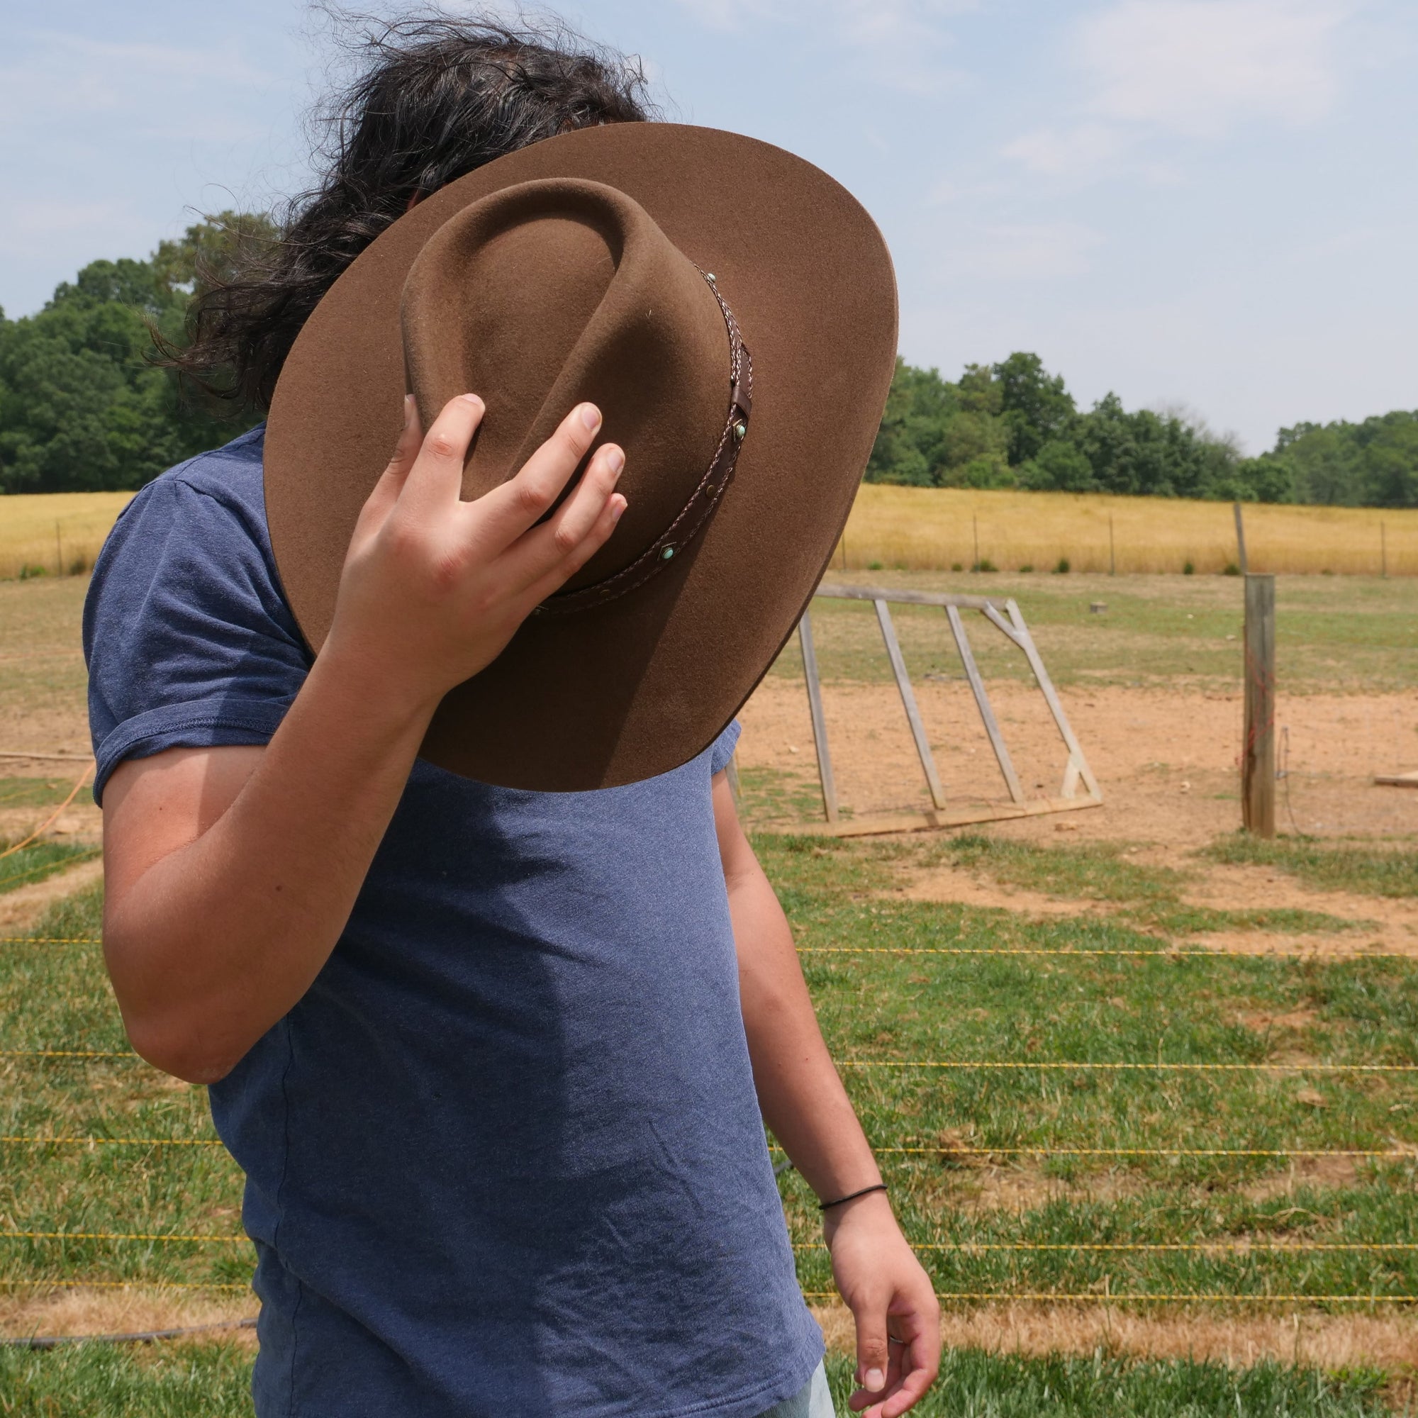
<instances>
[{"instance_id":1,"label":"creased brown felt crown of the cowboy hat","mask_svg":"<svg viewBox=\"0 0 1418 1418\"><path fill-rule=\"evenodd\" d=\"M400 315L424 427L457 394L486 404L465 499L512 478L576 404L601 410L601 440L625 451L628 506L567 590L635 562L715 457L729 407L725 315L689 257L614 187L545 179L464 207L424 244Z\"/></svg>"}]
</instances>

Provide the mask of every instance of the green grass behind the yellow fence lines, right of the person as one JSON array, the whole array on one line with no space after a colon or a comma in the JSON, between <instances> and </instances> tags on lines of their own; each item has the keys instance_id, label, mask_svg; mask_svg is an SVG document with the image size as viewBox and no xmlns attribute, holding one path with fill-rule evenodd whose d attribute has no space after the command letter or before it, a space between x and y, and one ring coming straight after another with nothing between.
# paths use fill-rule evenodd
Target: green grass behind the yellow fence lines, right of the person
<instances>
[{"instance_id":1,"label":"green grass behind the yellow fence lines, right of the person","mask_svg":"<svg viewBox=\"0 0 1418 1418\"><path fill-rule=\"evenodd\" d=\"M1418 1241L1414 1161L1336 1164L1288 1183L1288 1159L1018 1157L1007 1149L1374 1150L1418 1144L1418 1078L1271 1072L858 1068L886 1061L1418 1062L1418 971L1408 961L1176 956L1153 910L1029 922L1001 910L891 899L905 844L760 838L828 1044L898 1214L917 1242L1073 1245L1302 1239ZM940 848L936 848L940 849ZM949 848L944 848L949 851ZM966 839L964 854L980 852ZM1039 849L1042 851L1042 849ZM1117 883L1090 849L1007 864L1034 885L1092 881L1124 905L1176 878ZM1052 856L1054 854L1046 854ZM899 954L832 953L892 946ZM813 947L827 947L814 950ZM951 956L932 949L1144 950L1150 956ZM919 1151L889 1151L892 1147ZM997 1149L963 1157L957 1147ZM988 1163L988 1166L986 1166ZM1305 1164L1297 1164L1303 1168ZM1022 1188L1022 1190L1021 1190ZM801 1178L784 1193L801 1279L830 1289L811 1249ZM1003 1195L1010 1204L995 1204ZM1014 1198L1014 1200L1011 1200ZM1017 1204L1015 1204L1017 1202ZM964 1293L1418 1293L1418 1252L926 1252L937 1289Z\"/></svg>"}]
</instances>

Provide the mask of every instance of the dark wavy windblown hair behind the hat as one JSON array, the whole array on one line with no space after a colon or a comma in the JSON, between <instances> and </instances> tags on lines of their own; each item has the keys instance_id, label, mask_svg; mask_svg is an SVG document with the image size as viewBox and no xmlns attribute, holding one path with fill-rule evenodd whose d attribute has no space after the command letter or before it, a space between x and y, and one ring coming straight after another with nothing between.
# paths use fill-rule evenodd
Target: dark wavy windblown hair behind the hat
<instances>
[{"instance_id":1,"label":"dark wavy windblown hair behind the hat","mask_svg":"<svg viewBox=\"0 0 1418 1418\"><path fill-rule=\"evenodd\" d=\"M539 139L657 116L637 61L559 21L354 23L354 78L316 116L323 176L272 240L242 240L234 268L199 274L184 342L160 342L163 364L237 415L269 407L320 296L418 197Z\"/></svg>"}]
</instances>

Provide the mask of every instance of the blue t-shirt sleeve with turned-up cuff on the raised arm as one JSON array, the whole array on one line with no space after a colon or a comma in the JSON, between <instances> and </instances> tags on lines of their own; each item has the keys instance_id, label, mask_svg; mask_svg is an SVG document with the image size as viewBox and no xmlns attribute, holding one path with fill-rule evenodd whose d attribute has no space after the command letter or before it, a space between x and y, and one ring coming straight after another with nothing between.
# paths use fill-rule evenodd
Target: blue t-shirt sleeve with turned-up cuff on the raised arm
<instances>
[{"instance_id":1,"label":"blue t-shirt sleeve with turned-up cuff on the raised arm","mask_svg":"<svg viewBox=\"0 0 1418 1418\"><path fill-rule=\"evenodd\" d=\"M309 654L265 529L262 430L182 464L125 508L84 605L94 797L123 759L261 744Z\"/></svg>"}]
</instances>

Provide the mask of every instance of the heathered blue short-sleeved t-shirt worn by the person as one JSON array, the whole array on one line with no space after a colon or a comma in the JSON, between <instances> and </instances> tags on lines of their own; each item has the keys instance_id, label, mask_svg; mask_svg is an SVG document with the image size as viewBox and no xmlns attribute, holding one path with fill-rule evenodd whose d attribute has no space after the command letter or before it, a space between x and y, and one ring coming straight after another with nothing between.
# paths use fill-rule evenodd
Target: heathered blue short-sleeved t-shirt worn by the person
<instances>
[{"instance_id":1,"label":"heathered blue short-sleeved t-shirt worn by the person","mask_svg":"<svg viewBox=\"0 0 1418 1418\"><path fill-rule=\"evenodd\" d=\"M96 795L265 743L305 679L261 448L164 474L104 547ZM262 1418L747 1418L807 1383L710 805L736 735L596 793L414 764L329 961L210 1090Z\"/></svg>"}]
</instances>

